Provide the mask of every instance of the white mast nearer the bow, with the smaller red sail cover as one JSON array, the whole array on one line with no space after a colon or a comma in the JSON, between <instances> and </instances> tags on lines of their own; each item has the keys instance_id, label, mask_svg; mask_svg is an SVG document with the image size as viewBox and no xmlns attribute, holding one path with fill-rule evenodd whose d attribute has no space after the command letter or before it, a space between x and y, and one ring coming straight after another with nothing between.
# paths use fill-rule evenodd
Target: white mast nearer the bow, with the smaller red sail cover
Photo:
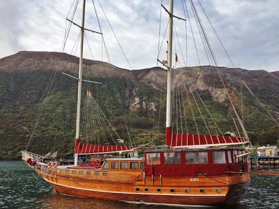
<instances>
[{"instance_id":1,"label":"white mast nearer the bow, with the smaller red sail cover","mask_svg":"<svg viewBox=\"0 0 279 209\"><path fill-rule=\"evenodd\" d=\"M75 141L77 142L80 138L80 103L82 98L82 56L83 56L83 41L84 41L84 15L85 15L85 1L83 0L82 6L82 26L80 36L80 66L79 66L79 79L77 86L77 122L75 125ZM75 143L77 144L77 143ZM77 166L78 154L75 153L75 166Z\"/></svg>"}]
</instances>

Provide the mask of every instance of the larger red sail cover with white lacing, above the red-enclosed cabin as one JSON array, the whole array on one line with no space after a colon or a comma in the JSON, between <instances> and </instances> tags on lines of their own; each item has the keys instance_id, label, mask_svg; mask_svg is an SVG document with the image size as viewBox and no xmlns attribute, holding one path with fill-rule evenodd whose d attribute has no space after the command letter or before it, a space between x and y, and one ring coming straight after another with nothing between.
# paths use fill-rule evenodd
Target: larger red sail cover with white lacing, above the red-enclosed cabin
<instances>
[{"instance_id":1,"label":"larger red sail cover with white lacing, above the red-enclosed cabin","mask_svg":"<svg viewBox=\"0 0 279 209\"><path fill-rule=\"evenodd\" d=\"M178 134L172 131L172 127L166 127L165 143L171 147L198 148L206 146L229 146L246 144L249 141L241 137L223 137L203 134Z\"/></svg>"}]
</instances>

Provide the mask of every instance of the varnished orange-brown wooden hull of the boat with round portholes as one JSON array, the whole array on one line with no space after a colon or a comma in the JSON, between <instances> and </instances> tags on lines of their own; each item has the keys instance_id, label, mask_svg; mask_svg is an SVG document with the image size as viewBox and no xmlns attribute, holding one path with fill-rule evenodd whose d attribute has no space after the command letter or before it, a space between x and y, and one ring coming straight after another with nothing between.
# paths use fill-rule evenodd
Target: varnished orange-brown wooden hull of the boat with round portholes
<instances>
[{"instance_id":1,"label":"varnished orange-brown wooden hull of the boat with round portholes","mask_svg":"<svg viewBox=\"0 0 279 209\"><path fill-rule=\"evenodd\" d=\"M59 170L59 169L58 169ZM86 196L97 199L109 199L114 201L127 201L137 203L156 203L176 206L220 206L236 204L244 198L250 185L248 174L240 176L214 176L208 178L145 178L138 173L135 177L123 180L115 178L86 178L82 176L60 175L57 169L53 173L37 172L61 194L73 196ZM121 173L118 174L121 176ZM194 181L191 181L193 180ZM195 181L199 179L199 181ZM214 180L215 179L215 180ZM137 191L136 189L139 189ZM148 188L148 191L144 189ZM170 188L174 192L170 192ZM188 188L190 192L186 193ZM216 189L220 192L216 192ZM158 192L157 189L160 189ZM205 192L201 192L204 189Z\"/></svg>"}]
</instances>

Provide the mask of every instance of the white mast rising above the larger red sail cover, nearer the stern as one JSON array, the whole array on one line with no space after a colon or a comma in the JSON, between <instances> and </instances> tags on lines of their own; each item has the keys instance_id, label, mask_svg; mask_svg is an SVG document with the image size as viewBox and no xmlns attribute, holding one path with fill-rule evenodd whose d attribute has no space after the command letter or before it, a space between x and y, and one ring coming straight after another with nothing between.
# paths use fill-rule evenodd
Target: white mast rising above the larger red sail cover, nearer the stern
<instances>
[{"instance_id":1,"label":"white mast rising above the larger red sail cover, nearer the stern","mask_svg":"<svg viewBox=\"0 0 279 209\"><path fill-rule=\"evenodd\" d=\"M172 27L173 27L174 1L169 1L169 40L167 42L167 117L166 128L171 126L171 99L172 99Z\"/></svg>"}]
</instances>

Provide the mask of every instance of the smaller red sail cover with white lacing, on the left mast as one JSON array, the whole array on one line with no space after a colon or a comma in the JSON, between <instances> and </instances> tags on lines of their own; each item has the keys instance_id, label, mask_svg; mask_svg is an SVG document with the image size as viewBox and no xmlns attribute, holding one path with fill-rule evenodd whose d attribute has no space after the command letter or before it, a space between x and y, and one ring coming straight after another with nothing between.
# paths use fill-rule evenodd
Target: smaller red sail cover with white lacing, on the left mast
<instances>
[{"instance_id":1,"label":"smaller red sail cover with white lacing, on the left mast","mask_svg":"<svg viewBox=\"0 0 279 209\"><path fill-rule=\"evenodd\" d=\"M80 140L75 140L75 153L77 154L117 153L132 150L133 148L130 146L83 144Z\"/></svg>"}]
</instances>

